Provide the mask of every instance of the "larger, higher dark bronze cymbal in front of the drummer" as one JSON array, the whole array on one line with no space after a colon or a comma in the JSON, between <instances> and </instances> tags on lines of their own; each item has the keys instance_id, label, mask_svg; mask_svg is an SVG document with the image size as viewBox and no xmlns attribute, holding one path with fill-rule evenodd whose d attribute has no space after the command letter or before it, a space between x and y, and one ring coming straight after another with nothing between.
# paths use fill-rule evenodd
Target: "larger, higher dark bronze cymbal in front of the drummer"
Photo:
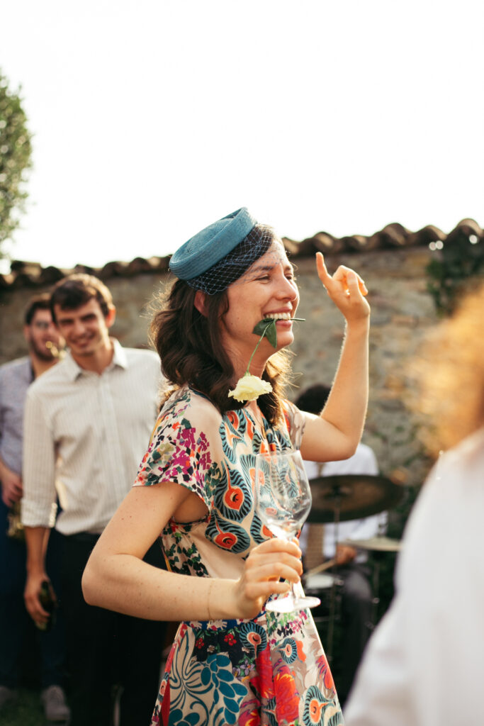
<instances>
[{"instance_id":1,"label":"larger, higher dark bronze cymbal in front of the drummer","mask_svg":"<svg viewBox=\"0 0 484 726\"><path fill-rule=\"evenodd\" d=\"M308 522L334 522L339 512L341 522L362 519L392 509L403 497L403 487L385 476L343 474L311 479L313 505Z\"/></svg>"}]
</instances>

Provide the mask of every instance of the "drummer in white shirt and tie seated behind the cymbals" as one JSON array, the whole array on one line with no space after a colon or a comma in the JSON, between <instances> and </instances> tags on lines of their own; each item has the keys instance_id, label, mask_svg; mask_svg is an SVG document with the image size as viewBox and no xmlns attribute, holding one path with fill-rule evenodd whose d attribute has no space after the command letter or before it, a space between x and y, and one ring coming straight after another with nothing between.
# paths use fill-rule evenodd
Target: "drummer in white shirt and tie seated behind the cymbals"
<instances>
[{"instance_id":1,"label":"drummer in white shirt and tie seated behind the cymbals","mask_svg":"<svg viewBox=\"0 0 484 726\"><path fill-rule=\"evenodd\" d=\"M303 411L317 414L324 408L330 391L331 388L328 386L316 383L315 386L309 386L300 393L295 404ZM358 444L355 454L349 459L328 461L324 464L305 461L304 465L310 480L319 476L377 475L379 473L377 457L375 457L373 449L366 444ZM371 517L343 521L337 525L331 522L324 524L321 554L326 560L336 559L337 576L343 582L341 592L343 638L340 648L335 653L335 659L340 663L338 695L343 706L371 634L373 592L370 584L371 570L368 566L368 552L357 550L356 547L348 544L338 544L338 542L377 537L378 534L383 534L385 531L386 523L387 513L382 512ZM303 552L308 540L308 531L306 523L299 540Z\"/></svg>"}]
</instances>

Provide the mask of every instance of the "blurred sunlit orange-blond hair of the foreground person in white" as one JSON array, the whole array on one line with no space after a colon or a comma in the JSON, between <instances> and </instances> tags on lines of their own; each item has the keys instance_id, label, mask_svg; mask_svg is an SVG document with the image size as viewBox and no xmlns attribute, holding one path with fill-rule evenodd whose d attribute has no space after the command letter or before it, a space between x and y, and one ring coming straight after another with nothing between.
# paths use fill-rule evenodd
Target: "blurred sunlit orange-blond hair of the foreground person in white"
<instances>
[{"instance_id":1,"label":"blurred sunlit orange-blond hair of the foreground person in white","mask_svg":"<svg viewBox=\"0 0 484 726\"><path fill-rule=\"evenodd\" d=\"M424 443L433 454L484 425L484 284L428 336L411 368L412 408L424 414Z\"/></svg>"}]
</instances>

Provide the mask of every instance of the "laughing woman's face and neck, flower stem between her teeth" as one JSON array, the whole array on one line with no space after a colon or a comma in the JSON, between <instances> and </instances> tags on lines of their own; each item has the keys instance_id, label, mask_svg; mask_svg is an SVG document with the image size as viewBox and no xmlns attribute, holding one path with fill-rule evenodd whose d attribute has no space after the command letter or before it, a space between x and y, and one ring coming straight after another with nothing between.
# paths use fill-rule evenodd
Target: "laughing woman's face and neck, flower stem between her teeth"
<instances>
[{"instance_id":1,"label":"laughing woman's face and neck, flower stem between her teeth","mask_svg":"<svg viewBox=\"0 0 484 726\"><path fill-rule=\"evenodd\" d=\"M221 320L223 347L237 376L243 375L260 336L253 333L264 318L276 320L277 348L294 340L291 318L299 303L292 264L282 243L275 240L247 272L227 288L229 310ZM250 372L261 375L267 359L275 350L264 338L254 356Z\"/></svg>"}]
</instances>

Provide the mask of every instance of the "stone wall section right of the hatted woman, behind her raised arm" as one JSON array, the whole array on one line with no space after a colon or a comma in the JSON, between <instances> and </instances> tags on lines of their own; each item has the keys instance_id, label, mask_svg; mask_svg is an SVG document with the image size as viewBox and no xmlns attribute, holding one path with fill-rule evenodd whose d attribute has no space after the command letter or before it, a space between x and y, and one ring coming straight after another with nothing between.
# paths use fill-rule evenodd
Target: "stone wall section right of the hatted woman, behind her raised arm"
<instances>
[{"instance_id":1,"label":"stone wall section right of the hatted woman, behind her raised arm","mask_svg":"<svg viewBox=\"0 0 484 726\"><path fill-rule=\"evenodd\" d=\"M435 325L435 308L427 293L426 248L332 256L329 272L338 264L354 267L370 290L370 398L363 441L377 454L382 473L405 484L421 484L428 461L416 436L416 420L406 409L406 367L422 336ZM293 368L305 388L331 383L343 340L343 317L325 294L313 271L313 261L298 264L301 290Z\"/></svg>"}]
</instances>

